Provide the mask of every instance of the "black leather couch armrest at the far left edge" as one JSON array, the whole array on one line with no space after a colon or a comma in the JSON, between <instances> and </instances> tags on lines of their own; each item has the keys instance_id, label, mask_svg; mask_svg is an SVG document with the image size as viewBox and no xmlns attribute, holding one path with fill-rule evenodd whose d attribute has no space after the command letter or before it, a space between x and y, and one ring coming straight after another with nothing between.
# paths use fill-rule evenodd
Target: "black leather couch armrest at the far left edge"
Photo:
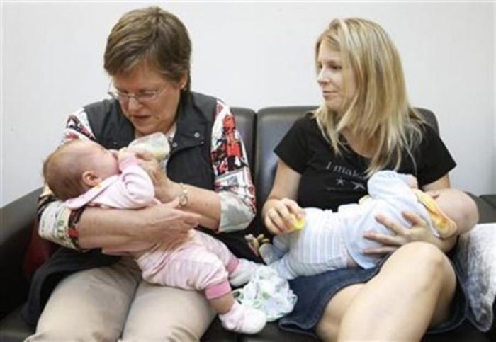
<instances>
[{"instance_id":1,"label":"black leather couch armrest at the far left edge","mask_svg":"<svg viewBox=\"0 0 496 342\"><path fill-rule=\"evenodd\" d=\"M35 222L36 203L41 188L0 208L0 317L26 299L28 282L24 279L23 258Z\"/></svg>"}]
</instances>

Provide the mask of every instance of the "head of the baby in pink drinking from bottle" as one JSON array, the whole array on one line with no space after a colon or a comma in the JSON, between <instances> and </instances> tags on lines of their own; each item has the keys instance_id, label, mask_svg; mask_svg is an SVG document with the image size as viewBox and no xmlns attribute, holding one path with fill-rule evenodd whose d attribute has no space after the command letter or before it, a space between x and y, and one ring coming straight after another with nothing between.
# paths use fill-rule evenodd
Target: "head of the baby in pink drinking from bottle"
<instances>
[{"instance_id":1,"label":"head of the baby in pink drinking from bottle","mask_svg":"<svg viewBox=\"0 0 496 342\"><path fill-rule=\"evenodd\" d=\"M52 192L67 200L120 173L117 151L91 140L74 139L58 147L43 164L43 176Z\"/></svg>"}]
</instances>

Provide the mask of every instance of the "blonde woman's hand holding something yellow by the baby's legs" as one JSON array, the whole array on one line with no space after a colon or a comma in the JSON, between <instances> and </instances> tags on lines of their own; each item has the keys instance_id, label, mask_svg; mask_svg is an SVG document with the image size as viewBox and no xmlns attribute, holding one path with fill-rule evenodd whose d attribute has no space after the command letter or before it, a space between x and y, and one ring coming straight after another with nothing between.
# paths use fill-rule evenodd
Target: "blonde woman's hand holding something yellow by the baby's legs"
<instances>
[{"instance_id":1,"label":"blonde woman's hand holding something yellow by the baby's legs","mask_svg":"<svg viewBox=\"0 0 496 342\"><path fill-rule=\"evenodd\" d=\"M305 211L294 200L282 198L272 199L269 210L266 211L264 224L272 234L291 232L295 221L305 217Z\"/></svg>"}]
</instances>

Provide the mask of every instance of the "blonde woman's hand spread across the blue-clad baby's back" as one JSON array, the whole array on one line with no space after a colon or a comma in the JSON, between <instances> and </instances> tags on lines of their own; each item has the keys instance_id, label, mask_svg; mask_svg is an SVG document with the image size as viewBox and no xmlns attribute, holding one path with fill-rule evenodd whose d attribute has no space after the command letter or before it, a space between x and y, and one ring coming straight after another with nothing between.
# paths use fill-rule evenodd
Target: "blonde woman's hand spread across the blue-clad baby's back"
<instances>
[{"instance_id":1,"label":"blonde woman's hand spread across the blue-clad baby's back","mask_svg":"<svg viewBox=\"0 0 496 342\"><path fill-rule=\"evenodd\" d=\"M376 220L388 228L393 235L378 234L377 232L365 232L363 237L382 244L381 247L367 249L366 254L386 254L395 251L398 247L412 241L424 241L438 246L446 252L453 248L456 238L439 239L432 234L426 222L415 212L402 212L403 217L412 224L412 227L405 227L398 222L390 220L383 215L377 215Z\"/></svg>"}]
</instances>

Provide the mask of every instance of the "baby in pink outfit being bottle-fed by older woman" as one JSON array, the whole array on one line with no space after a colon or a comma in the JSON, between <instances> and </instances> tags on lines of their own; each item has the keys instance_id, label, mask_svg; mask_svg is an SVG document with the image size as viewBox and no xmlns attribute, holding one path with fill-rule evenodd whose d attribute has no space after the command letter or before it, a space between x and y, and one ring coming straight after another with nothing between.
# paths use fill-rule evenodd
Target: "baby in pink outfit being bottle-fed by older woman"
<instances>
[{"instance_id":1,"label":"baby in pink outfit being bottle-fed by older woman","mask_svg":"<svg viewBox=\"0 0 496 342\"><path fill-rule=\"evenodd\" d=\"M71 209L135 209L159 203L150 176L133 152L104 149L90 140L74 139L60 146L45 161L43 175ZM225 329L256 334L266 324L263 312L234 300L230 286L247 283L257 264L237 258L208 234L191 229L186 241L138 242L103 252L134 256L149 283L204 291Z\"/></svg>"}]
</instances>

